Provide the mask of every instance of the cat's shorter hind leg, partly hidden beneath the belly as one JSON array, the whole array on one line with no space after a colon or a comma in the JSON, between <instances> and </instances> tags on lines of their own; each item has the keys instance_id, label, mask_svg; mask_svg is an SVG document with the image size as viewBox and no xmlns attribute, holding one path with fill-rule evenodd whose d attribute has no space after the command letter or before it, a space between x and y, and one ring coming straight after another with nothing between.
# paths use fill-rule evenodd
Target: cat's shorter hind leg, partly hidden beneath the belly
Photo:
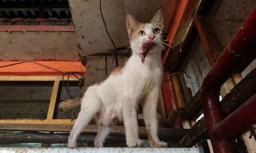
<instances>
[{"instance_id":1,"label":"cat's shorter hind leg, partly hidden beneath the belly","mask_svg":"<svg viewBox=\"0 0 256 153\"><path fill-rule=\"evenodd\" d=\"M94 139L95 147L103 147L104 140L110 134L111 127L99 125L97 136Z\"/></svg>"}]
</instances>

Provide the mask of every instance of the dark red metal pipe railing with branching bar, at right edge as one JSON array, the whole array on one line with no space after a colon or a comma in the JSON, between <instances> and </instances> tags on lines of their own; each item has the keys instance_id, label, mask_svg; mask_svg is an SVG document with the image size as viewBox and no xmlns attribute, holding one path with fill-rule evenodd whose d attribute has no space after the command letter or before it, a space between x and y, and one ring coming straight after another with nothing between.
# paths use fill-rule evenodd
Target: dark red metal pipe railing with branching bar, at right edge
<instances>
[{"instance_id":1,"label":"dark red metal pipe railing with branching bar, at right edge","mask_svg":"<svg viewBox=\"0 0 256 153\"><path fill-rule=\"evenodd\" d=\"M256 8L232 38L223 54L204 78L201 105L215 152L234 152L231 140L256 123L256 98L253 96L225 119L221 112L221 85L256 47Z\"/></svg>"}]
</instances>

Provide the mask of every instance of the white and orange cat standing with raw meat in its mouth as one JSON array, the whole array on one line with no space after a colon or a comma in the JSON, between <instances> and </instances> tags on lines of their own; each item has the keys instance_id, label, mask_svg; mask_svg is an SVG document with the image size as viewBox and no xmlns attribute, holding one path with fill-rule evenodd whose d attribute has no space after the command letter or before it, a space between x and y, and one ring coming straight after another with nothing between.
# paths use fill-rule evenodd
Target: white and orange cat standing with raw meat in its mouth
<instances>
[{"instance_id":1,"label":"white and orange cat standing with raw meat in its mouth","mask_svg":"<svg viewBox=\"0 0 256 153\"><path fill-rule=\"evenodd\" d=\"M163 13L159 10L149 23L140 23L127 15L126 27L132 56L123 67L116 68L103 82L90 86L81 98L81 111L69 136L69 147L77 146L77 137L93 119L98 122L95 147L102 147L116 121L123 121L126 144L142 147L139 139L137 111L141 105L151 147L167 147L159 140L157 101L161 90L163 67L161 38ZM77 100L77 99L76 99ZM70 102L63 101L60 108L67 109ZM70 106L69 106L70 105Z\"/></svg>"}]
</instances>

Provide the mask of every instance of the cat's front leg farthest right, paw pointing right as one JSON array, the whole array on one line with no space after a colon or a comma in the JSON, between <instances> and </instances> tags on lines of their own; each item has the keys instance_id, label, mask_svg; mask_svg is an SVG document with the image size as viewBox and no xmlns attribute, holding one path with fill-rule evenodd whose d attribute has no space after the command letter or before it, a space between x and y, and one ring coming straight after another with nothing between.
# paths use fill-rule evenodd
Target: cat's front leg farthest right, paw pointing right
<instances>
[{"instance_id":1,"label":"cat's front leg farthest right, paw pointing right","mask_svg":"<svg viewBox=\"0 0 256 153\"><path fill-rule=\"evenodd\" d=\"M145 95L142 103L143 117L148 132L150 147L168 147L168 144L166 142L160 141L157 135L157 102L159 92L160 87L154 87L150 92Z\"/></svg>"}]
</instances>

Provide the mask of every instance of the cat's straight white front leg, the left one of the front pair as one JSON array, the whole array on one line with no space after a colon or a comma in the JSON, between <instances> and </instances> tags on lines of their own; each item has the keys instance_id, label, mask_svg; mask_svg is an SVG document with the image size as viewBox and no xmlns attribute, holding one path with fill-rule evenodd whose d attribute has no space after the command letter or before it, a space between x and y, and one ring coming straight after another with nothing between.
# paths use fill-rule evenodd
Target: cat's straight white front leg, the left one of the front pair
<instances>
[{"instance_id":1,"label":"cat's straight white front leg, the left one of the front pair","mask_svg":"<svg viewBox=\"0 0 256 153\"><path fill-rule=\"evenodd\" d=\"M125 126L126 144L128 147L142 147L143 142L139 139L137 111L130 98L123 101L123 121Z\"/></svg>"}]
</instances>

